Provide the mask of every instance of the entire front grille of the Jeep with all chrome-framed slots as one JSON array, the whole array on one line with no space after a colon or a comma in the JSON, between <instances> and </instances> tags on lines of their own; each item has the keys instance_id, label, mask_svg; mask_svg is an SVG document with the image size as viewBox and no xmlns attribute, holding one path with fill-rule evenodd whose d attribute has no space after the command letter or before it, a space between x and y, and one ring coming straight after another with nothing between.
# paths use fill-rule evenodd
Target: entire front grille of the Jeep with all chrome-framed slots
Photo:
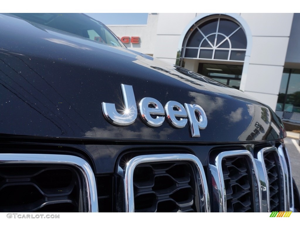
<instances>
[{"instance_id":1,"label":"entire front grille of the Jeep with all chrome-framed slots","mask_svg":"<svg viewBox=\"0 0 300 225\"><path fill-rule=\"evenodd\" d=\"M237 149L237 148L235 148ZM168 150L170 152L170 150ZM129 154L133 154L130 152ZM191 154L124 154L95 175L70 155L0 154L0 212L268 212L293 208L284 145ZM125 160L126 159L126 160Z\"/></svg>"}]
</instances>

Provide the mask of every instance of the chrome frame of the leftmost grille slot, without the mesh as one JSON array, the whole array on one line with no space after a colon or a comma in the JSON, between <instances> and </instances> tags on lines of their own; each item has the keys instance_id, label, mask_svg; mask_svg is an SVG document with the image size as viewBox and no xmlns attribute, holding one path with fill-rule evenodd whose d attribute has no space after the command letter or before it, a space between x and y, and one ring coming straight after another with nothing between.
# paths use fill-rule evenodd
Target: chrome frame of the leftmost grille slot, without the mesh
<instances>
[{"instance_id":1,"label":"chrome frame of the leftmost grille slot, without the mesh","mask_svg":"<svg viewBox=\"0 0 300 225\"><path fill-rule=\"evenodd\" d=\"M52 154L0 154L0 164L63 164L76 167L84 178L86 208L88 212L98 212L96 181L87 161L73 155Z\"/></svg>"}]
</instances>

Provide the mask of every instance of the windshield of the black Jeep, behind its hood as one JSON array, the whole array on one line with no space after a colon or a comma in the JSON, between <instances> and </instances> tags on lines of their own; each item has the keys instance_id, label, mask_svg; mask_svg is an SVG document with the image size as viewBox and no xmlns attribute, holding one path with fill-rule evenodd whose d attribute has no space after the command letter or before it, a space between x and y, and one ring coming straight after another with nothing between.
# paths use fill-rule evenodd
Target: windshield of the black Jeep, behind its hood
<instances>
[{"instance_id":1,"label":"windshield of the black Jeep, behind its hood","mask_svg":"<svg viewBox=\"0 0 300 225\"><path fill-rule=\"evenodd\" d=\"M12 13L22 19L79 35L93 41L124 47L103 23L82 13Z\"/></svg>"}]
</instances>

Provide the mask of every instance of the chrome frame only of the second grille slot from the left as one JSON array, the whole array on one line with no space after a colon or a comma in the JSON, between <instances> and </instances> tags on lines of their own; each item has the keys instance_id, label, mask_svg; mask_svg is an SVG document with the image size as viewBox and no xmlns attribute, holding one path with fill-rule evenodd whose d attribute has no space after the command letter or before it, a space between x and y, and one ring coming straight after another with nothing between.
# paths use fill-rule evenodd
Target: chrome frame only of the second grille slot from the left
<instances>
[{"instance_id":1,"label":"chrome frame only of the second grille slot from the left","mask_svg":"<svg viewBox=\"0 0 300 225\"><path fill-rule=\"evenodd\" d=\"M127 162L123 169L123 181L125 187L125 211L134 212L134 189L133 189L133 175L134 169L141 163L154 162L170 162L170 161L186 161L194 165L194 172L196 173L197 189L199 192L200 211L210 212L210 202L208 195L208 186L205 178L205 173L199 159L190 154L158 154L158 155L140 155L132 158ZM120 168L120 165L119 165ZM121 172L121 171L119 171Z\"/></svg>"}]
</instances>

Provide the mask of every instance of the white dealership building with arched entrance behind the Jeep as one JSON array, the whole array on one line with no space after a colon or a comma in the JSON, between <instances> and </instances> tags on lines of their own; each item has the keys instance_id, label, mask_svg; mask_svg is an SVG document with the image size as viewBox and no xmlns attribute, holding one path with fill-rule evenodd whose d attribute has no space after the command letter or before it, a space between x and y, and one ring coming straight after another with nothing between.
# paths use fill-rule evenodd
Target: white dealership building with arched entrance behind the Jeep
<instances>
[{"instance_id":1,"label":"white dealership building with arched entrance behind the Jeep","mask_svg":"<svg viewBox=\"0 0 300 225\"><path fill-rule=\"evenodd\" d=\"M149 13L108 25L129 48L237 88L300 123L300 13Z\"/></svg>"}]
</instances>

